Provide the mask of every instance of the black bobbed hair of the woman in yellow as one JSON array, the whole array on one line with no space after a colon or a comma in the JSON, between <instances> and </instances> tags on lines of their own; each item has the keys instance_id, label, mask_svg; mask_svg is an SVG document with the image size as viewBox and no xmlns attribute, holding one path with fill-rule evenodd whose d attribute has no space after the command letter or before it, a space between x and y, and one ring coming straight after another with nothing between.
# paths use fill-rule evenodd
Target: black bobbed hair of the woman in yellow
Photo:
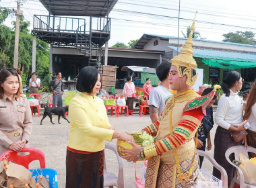
<instances>
[{"instance_id":1,"label":"black bobbed hair of the woman in yellow","mask_svg":"<svg viewBox=\"0 0 256 188\"><path fill-rule=\"evenodd\" d=\"M95 67L86 66L82 68L77 78L77 91L92 93L92 89L98 80L98 74L100 72Z\"/></svg>"}]
</instances>

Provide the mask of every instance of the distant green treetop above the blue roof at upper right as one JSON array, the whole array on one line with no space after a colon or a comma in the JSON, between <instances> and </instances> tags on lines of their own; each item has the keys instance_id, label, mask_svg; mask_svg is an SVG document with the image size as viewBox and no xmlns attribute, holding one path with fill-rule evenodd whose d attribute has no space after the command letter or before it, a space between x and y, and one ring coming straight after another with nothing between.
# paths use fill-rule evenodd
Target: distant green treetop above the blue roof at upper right
<instances>
[{"instance_id":1,"label":"distant green treetop above the blue roof at upper right","mask_svg":"<svg viewBox=\"0 0 256 188\"><path fill-rule=\"evenodd\" d=\"M234 43L242 43L242 44L252 44L255 45L255 34L253 32L241 32L236 31L235 33L229 32L228 34L223 34L224 42L234 42Z\"/></svg>"}]
</instances>

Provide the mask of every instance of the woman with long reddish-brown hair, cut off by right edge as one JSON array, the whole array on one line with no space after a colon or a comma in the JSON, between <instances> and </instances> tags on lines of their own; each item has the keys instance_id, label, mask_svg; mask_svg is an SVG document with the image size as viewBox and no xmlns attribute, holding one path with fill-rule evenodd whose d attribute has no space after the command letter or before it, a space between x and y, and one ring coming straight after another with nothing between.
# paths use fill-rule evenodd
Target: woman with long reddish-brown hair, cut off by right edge
<instances>
[{"instance_id":1,"label":"woman with long reddish-brown hair, cut off by right edge","mask_svg":"<svg viewBox=\"0 0 256 188\"><path fill-rule=\"evenodd\" d=\"M256 148L256 79L247 99L247 105L245 106L245 114L243 119L248 120L250 124L250 127L247 130L247 144L248 146ZM256 154L249 153L250 158L255 156Z\"/></svg>"}]
</instances>

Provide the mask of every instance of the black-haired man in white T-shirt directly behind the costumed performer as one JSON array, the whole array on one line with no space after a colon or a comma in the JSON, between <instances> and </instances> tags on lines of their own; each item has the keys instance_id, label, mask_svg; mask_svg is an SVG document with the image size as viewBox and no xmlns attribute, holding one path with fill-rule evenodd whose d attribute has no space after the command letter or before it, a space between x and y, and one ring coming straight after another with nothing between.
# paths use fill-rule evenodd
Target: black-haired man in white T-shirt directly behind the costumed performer
<instances>
[{"instance_id":1,"label":"black-haired man in white T-shirt directly behind the costumed performer","mask_svg":"<svg viewBox=\"0 0 256 188\"><path fill-rule=\"evenodd\" d=\"M156 75L158 79L162 82L162 85L154 88L150 92L150 97L148 105L150 107L150 119L152 123L158 120L158 117L161 115L162 110L165 107L167 99L170 97L170 83L169 83L169 71L170 63L162 62L156 67Z\"/></svg>"}]
</instances>

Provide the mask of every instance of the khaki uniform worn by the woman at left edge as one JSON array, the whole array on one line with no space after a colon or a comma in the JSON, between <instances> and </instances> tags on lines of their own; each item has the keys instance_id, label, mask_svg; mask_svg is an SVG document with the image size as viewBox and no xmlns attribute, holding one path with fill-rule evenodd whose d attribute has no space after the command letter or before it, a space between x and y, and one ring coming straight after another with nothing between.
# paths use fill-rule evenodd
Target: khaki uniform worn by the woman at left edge
<instances>
[{"instance_id":1,"label":"khaki uniform worn by the woman at left edge","mask_svg":"<svg viewBox=\"0 0 256 188\"><path fill-rule=\"evenodd\" d=\"M3 96L4 99L0 99L0 154L8 150L13 142L29 140L32 133L32 114L28 99L14 95L10 100L5 93ZM17 132L23 133L14 136ZM5 133L13 135L6 136Z\"/></svg>"}]
</instances>

